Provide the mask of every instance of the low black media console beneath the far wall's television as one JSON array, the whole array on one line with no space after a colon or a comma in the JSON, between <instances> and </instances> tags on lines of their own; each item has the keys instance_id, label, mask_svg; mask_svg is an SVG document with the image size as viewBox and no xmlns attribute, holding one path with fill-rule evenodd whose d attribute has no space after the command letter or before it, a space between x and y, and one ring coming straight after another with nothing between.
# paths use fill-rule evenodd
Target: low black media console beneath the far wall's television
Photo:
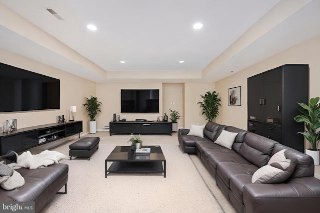
<instances>
[{"instance_id":1,"label":"low black media console beneath the far wall's television","mask_svg":"<svg viewBox=\"0 0 320 213\"><path fill-rule=\"evenodd\" d=\"M116 121L110 122L110 136L113 134L172 134L172 122Z\"/></svg>"}]
</instances>

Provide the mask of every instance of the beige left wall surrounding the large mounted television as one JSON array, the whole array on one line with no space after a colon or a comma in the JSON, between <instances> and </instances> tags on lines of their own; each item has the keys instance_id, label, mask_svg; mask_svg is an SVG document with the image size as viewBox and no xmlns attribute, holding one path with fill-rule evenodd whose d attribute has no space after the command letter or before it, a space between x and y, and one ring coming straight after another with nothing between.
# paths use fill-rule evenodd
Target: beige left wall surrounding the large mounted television
<instances>
[{"instance_id":1,"label":"beige left wall surrounding the large mounted television","mask_svg":"<svg viewBox=\"0 0 320 213\"><path fill-rule=\"evenodd\" d=\"M0 113L0 124L5 120L17 119L17 128L31 127L57 122L58 115L69 118L70 106L76 106L75 120L83 121L83 133L88 132L88 117L82 104L84 97L95 94L95 83L21 55L0 49L0 62L32 72L60 79L60 109L35 110L15 113ZM0 100L1 104L1 100Z\"/></svg>"}]
</instances>

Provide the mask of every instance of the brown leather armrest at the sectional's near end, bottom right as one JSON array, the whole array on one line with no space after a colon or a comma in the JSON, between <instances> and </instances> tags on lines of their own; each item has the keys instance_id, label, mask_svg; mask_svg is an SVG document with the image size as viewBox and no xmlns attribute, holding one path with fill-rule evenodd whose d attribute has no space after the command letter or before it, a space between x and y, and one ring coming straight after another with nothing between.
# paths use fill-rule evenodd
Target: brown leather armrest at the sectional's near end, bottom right
<instances>
[{"instance_id":1,"label":"brown leather armrest at the sectional's near end, bottom right","mask_svg":"<svg viewBox=\"0 0 320 213\"><path fill-rule=\"evenodd\" d=\"M245 213L314 212L320 202L320 180L295 178L282 184L246 184Z\"/></svg>"}]
</instances>

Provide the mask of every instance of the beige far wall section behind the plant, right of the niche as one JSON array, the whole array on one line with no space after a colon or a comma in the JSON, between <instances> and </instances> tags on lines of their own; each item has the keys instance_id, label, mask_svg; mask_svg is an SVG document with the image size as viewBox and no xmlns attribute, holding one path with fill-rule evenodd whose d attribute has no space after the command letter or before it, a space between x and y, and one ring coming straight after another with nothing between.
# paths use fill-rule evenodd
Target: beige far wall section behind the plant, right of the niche
<instances>
[{"instance_id":1,"label":"beige far wall section behind the plant, right of the niche","mask_svg":"<svg viewBox=\"0 0 320 213\"><path fill-rule=\"evenodd\" d=\"M215 90L214 83L184 83L184 128L189 129L191 124L206 124L205 116L201 115L202 111L197 102L203 99L200 95L204 95L207 91Z\"/></svg>"}]
</instances>

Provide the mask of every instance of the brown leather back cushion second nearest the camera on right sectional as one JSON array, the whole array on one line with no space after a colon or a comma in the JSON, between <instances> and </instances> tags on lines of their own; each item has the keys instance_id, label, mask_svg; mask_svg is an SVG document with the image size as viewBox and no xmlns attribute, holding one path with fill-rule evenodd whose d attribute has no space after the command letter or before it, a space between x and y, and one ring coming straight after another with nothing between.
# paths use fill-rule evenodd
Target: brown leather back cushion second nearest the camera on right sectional
<instances>
[{"instance_id":1,"label":"brown leather back cushion second nearest the camera on right sectional","mask_svg":"<svg viewBox=\"0 0 320 213\"><path fill-rule=\"evenodd\" d=\"M278 142L248 132L244 137L239 154L260 168L268 163L275 144Z\"/></svg>"}]
</instances>

